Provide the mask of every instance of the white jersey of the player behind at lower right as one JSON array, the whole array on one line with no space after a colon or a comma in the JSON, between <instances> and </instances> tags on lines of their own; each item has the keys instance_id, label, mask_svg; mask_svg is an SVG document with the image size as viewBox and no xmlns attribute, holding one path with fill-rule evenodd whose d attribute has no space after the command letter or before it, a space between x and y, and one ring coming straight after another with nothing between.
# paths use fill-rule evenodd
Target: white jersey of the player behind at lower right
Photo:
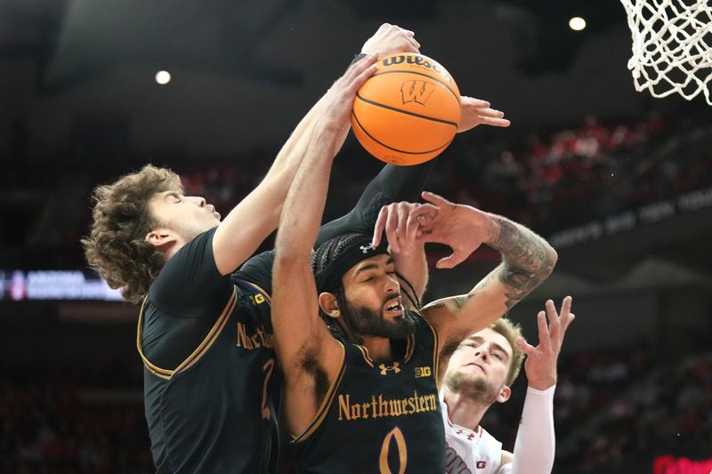
<instances>
[{"instance_id":1,"label":"white jersey of the player behind at lower right","mask_svg":"<svg viewBox=\"0 0 712 474\"><path fill-rule=\"evenodd\" d=\"M441 406L446 474L496 474L502 461L502 443L481 426L470 430L450 422L448 406L443 401Z\"/></svg>"}]
</instances>

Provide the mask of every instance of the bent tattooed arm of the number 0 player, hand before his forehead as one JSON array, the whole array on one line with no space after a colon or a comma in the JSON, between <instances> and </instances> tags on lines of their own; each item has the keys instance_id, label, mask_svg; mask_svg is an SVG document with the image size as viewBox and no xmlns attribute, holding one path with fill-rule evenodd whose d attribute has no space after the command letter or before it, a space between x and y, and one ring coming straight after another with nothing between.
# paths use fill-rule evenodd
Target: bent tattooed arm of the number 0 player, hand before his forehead
<instances>
[{"instance_id":1,"label":"bent tattooed arm of the number 0 player, hand before his forehead","mask_svg":"<svg viewBox=\"0 0 712 474\"><path fill-rule=\"evenodd\" d=\"M423 240L449 245L453 253L437 267L448 269L464 261L481 244L502 254L502 262L467 294L433 301L423 313L441 335L441 358L469 334L494 323L551 274L557 255L546 240L505 217L456 205L423 193L438 209L425 208ZM425 206L424 206L425 207ZM441 359L441 363L443 363Z\"/></svg>"}]
</instances>

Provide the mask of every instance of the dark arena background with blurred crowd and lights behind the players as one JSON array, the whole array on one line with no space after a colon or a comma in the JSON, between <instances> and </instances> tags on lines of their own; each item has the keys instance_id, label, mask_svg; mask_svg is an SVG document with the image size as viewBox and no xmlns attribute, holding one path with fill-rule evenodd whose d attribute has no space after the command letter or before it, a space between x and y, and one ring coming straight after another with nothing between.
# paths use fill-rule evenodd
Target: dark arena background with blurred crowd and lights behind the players
<instances>
[{"instance_id":1,"label":"dark arena background with blurred crowd and lights behind the players","mask_svg":"<svg viewBox=\"0 0 712 474\"><path fill-rule=\"evenodd\" d=\"M427 189L559 251L511 314L536 340L544 301L575 298L554 472L712 458L712 113L635 92L618 2L0 0L0 471L151 471L136 309L78 245L91 189L150 162L226 212L384 21L512 120L457 137ZM350 138L328 217L379 166ZM434 271L428 298L496 264ZM525 386L482 422L509 449Z\"/></svg>"}]
</instances>

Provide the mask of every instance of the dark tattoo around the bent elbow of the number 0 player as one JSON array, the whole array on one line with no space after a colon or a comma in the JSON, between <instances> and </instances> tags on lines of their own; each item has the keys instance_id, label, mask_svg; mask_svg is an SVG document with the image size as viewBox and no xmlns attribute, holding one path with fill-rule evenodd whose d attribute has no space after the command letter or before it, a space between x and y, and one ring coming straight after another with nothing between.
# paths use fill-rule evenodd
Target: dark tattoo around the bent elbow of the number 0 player
<instances>
[{"instance_id":1,"label":"dark tattoo around the bent elbow of the number 0 player","mask_svg":"<svg viewBox=\"0 0 712 474\"><path fill-rule=\"evenodd\" d=\"M491 246L502 253L504 261L498 277L511 290L506 293L506 307L511 309L549 276L554 269L556 253L546 240L530 229L499 216L497 220L499 235Z\"/></svg>"}]
</instances>

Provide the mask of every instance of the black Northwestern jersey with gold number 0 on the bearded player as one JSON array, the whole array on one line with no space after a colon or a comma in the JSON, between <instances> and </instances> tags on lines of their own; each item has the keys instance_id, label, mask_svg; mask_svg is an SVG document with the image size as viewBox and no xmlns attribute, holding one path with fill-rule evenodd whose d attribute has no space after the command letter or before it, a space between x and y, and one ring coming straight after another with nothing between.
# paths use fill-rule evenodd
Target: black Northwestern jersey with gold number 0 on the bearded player
<instances>
[{"instance_id":1,"label":"black Northwestern jersey with gold number 0 on the bearded player","mask_svg":"<svg viewBox=\"0 0 712 474\"><path fill-rule=\"evenodd\" d=\"M312 425L294 438L300 471L437 473L445 470L438 399L438 335L417 315L404 355L376 363L344 343L344 362Z\"/></svg>"}]
</instances>

